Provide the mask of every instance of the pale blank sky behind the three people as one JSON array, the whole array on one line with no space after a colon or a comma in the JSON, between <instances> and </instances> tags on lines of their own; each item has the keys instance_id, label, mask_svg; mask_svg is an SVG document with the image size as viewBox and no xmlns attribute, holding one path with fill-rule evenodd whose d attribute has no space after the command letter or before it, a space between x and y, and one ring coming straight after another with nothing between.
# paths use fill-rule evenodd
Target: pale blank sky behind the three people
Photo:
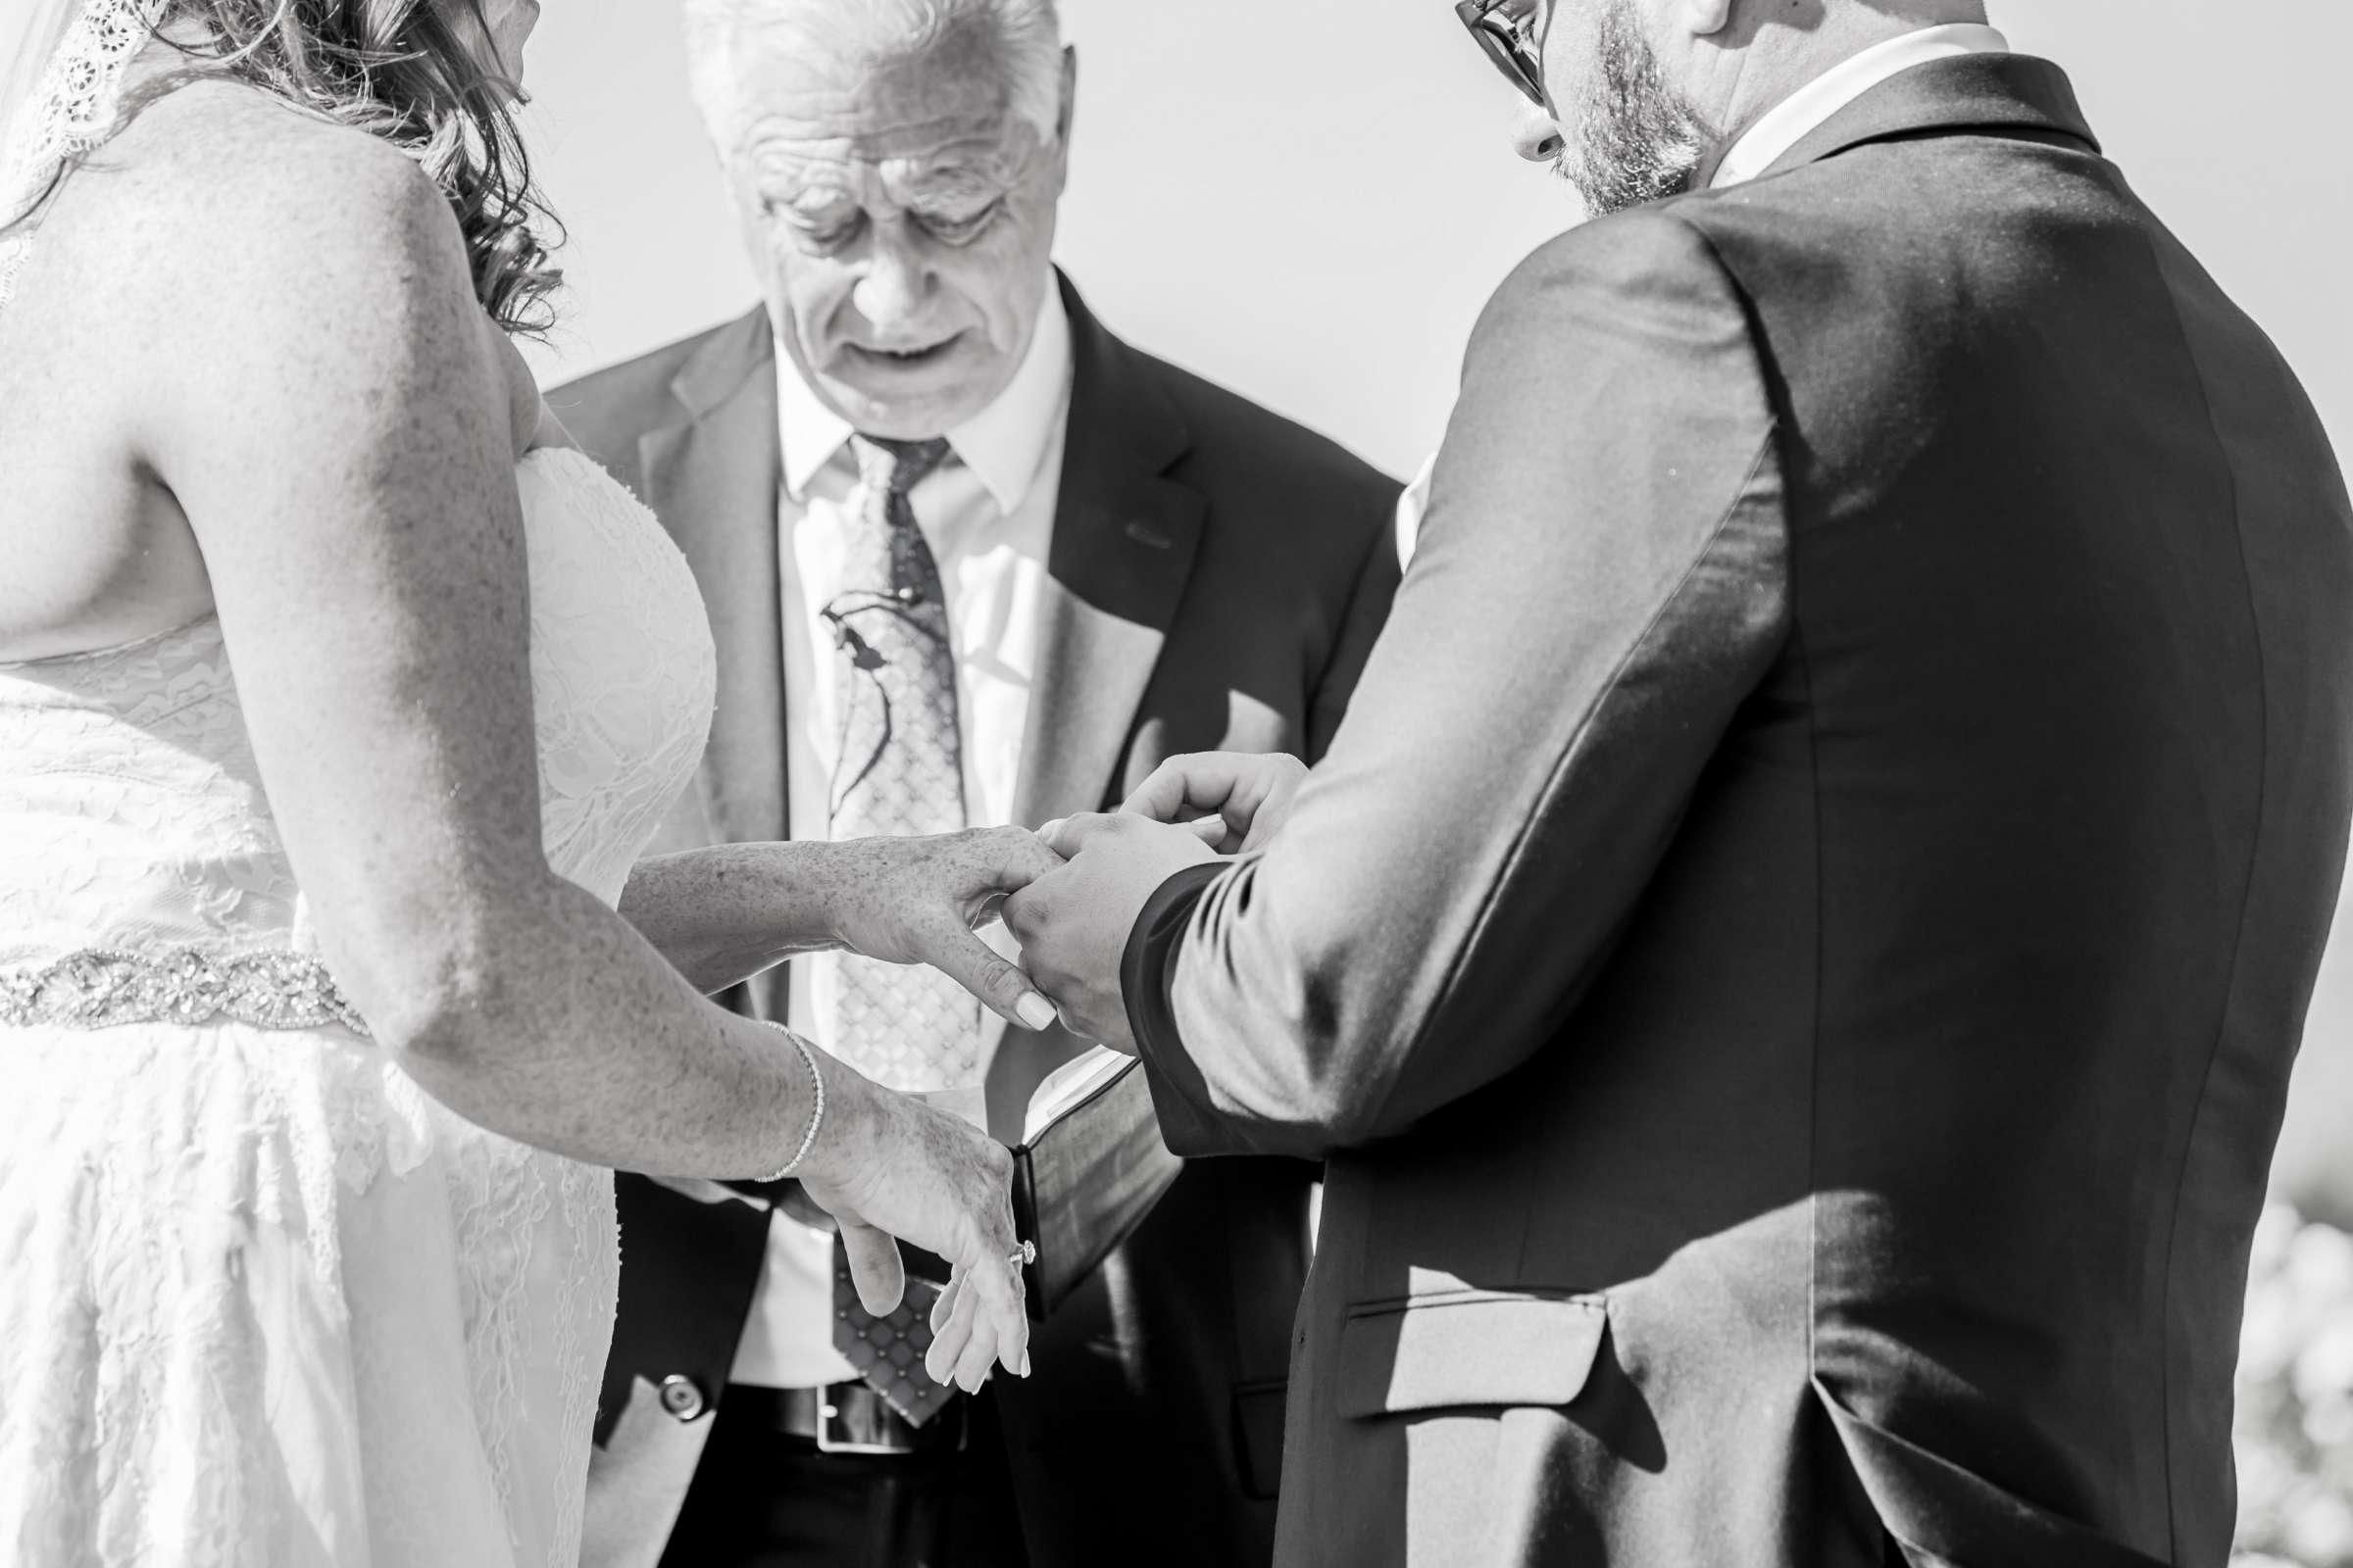
<instances>
[{"instance_id":1,"label":"pale blank sky behind the three people","mask_svg":"<svg viewBox=\"0 0 2353 1568\"><path fill-rule=\"evenodd\" d=\"M1061 261L1136 343L1395 473L1442 428L1494 282L1574 207L1445 0L1064 0L1080 49ZM2353 0L1993 0L2304 374L2353 454ZM755 292L671 0L548 0L527 115L572 228L555 381ZM2353 919L2346 922L2353 926ZM2322 976L2282 1175L2353 1133L2353 933ZM2344 1159L2341 1164L2353 1164ZM2346 1180L2353 1211L2353 1171Z\"/></svg>"}]
</instances>

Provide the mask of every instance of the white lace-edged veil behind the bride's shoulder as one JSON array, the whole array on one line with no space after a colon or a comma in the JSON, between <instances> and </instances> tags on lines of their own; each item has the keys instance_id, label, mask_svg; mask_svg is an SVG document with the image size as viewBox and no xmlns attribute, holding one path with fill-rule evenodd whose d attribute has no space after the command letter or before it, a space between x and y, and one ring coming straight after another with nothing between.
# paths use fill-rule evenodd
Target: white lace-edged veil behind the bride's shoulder
<instances>
[{"instance_id":1,"label":"white lace-edged veil behind the bride's shoulder","mask_svg":"<svg viewBox=\"0 0 2353 1568\"><path fill-rule=\"evenodd\" d=\"M146 45L167 0L33 0L0 66L0 306L33 247L33 207L75 153L115 129L122 68Z\"/></svg>"}]
</instances>

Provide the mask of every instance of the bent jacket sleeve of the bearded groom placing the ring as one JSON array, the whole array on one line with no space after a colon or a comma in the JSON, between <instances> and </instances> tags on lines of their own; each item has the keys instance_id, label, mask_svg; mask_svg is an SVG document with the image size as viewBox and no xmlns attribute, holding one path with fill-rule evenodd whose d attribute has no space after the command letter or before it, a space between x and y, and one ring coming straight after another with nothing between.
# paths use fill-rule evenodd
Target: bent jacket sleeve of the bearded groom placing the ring
<instances>
[{"instance_id":1,"label":"bent jacket sleeve of the bearded groom placing the ring","mask_svg":"<svg viewBox=\"0 0 2353 1568\"><path fill-rule=\"evenodd\" d=\"M1421 548L1282 835L1139 922L1167 1145L1374 1143L1553 1037L1788 637L1786 555L1706 240L1635 212L1539 249L1473 334Z\"/></svg>"}]
</instances>

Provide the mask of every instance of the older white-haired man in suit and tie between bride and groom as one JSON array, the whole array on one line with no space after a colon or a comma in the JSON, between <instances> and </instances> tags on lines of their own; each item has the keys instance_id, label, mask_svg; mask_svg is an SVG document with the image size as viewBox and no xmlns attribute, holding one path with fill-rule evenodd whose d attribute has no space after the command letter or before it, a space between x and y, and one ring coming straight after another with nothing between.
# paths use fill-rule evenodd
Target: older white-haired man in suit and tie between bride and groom
<instances>
[{"instance_id":1,"label":"older white-haired man in suit and tie between bride and groom","mask_svg":"<svg viewBox=\"0 0 2353 1568\"><path fill-rule=\"evenodd\" d=\"M1052 0L685 9L767 299L553 397L718 632L664 846L1038 825L1176 752L1320 755L1395 588L1398 487L1127 348L1054 273L1075 59ZM840 954L739 1004L986 1103L1007 1143L1080 1051ZM1080 1211L1174 1171L1141 1077L1127 1105L1144 1143L1101 1182L1024 1194L1033 1375L976 1396L927 1385L920 1312L856 1307L788 1185L624 1178L588 1561L1268 1561L1313 1168L1186 1168L1085 1267L1115 1237Z\"/></svg>"}]
</instances>

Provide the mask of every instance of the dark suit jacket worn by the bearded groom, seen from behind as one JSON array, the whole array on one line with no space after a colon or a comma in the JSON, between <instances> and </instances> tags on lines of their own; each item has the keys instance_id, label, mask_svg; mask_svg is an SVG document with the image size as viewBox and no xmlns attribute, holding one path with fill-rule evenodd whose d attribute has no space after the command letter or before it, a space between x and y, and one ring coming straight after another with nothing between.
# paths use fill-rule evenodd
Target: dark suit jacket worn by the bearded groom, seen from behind
<instances>
[{"instance_id":1,"label":"dark suit jacket worn by the bearded groom, seen from behind","mask_svg":"<svg viewBox=\"0 0 2353 1568\"><path fill-rule=\"evenodd\" d=\"M1539 249L1129 947L1169 1147L1334 1152L1278 1561L2219 1568L2348 745L2320 423L2047 61Z\"/></svg>"}]
</instances>

